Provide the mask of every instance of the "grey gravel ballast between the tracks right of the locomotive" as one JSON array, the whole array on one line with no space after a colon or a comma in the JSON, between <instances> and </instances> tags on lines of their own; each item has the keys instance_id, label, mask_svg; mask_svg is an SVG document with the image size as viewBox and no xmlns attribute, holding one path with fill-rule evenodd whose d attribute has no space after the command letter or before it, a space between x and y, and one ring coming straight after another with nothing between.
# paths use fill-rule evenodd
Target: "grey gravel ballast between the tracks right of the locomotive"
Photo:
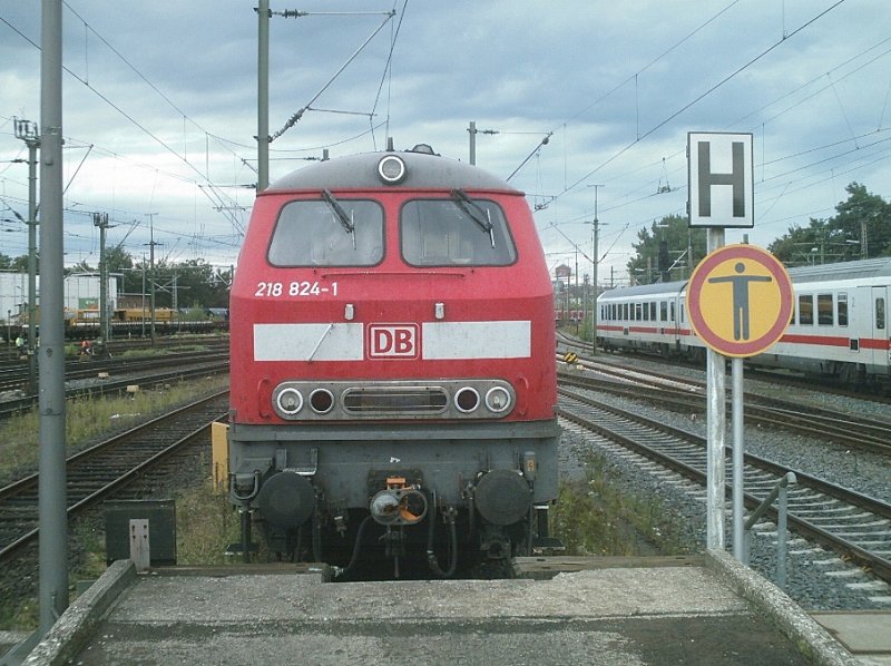
<instances>
[{"instance_id":1,"label":"grey gravel ballast between the tracks right of the locomotive","mask_svg":"<svg viewBox=\"0 0 891 666\"><path fill-rule=\"evenodd\" d=\"M603 356L600 360L608 360ZM617 361L618 362L618 361ZM654 368L645 360L620 358L620 362L634 363L642 368ZM658 365L664 371L664 365ZM689 373L689 376L702 378L703 372L696 370L679 370ZM775 385L764 381L745 382L745 390L758 393L777 392ZM790 398L790 389L781 390L785 399ZM795 390L795 398L814 401L822 407L835 407L848 413L866 414L872 418L887 420L888 407L868 401L844 396L835 396L819 391ZM607 403L621 404L627 408L625 399L599 395L598 399ZM699 414L679 414L665 411L652 403L637 403L636 410L649 418L659 419L666 423L705 435L705 418ZM590 450L590 443L577 433L564 431L564 466L571 474L579 466L579 453ZM873 453L849 451L843 447L812 438L802 438L784 431L767 431L762 428L745 429L745 450L762 458L787 464L790 468L800 469L814 476L823 477L840 486L852 488L865 494L891 501L891 460ZM682 533L688 540L689 550L697 551L705 548L705 501L701 493L692 493L686 484L668 484L663 480L640 472L640 469L630 461L616 456L608 457L611 467L610 477L628 492L644 497L655 497L657 501L682 522ZM728 479L730 480L730 479ZM727 509L728 523L725 528L725 541L732 550L733 528L730 522L731 509ZM761 527L761 530L757 528ZM795 535L791 536L794 539ZM775 559L775 527L772 523L756 526L752 537L751 564L752 567L767 578L773 579L776 569ZM791 540L789 545L790 559L787 569L787 585L785 590L806 609L889 609L891 608L891 591L887 586L875 585L878 589L862 589L846 587L838 582L843 578L852 584L875 584L875 579L861 571L853 565L841 561L834 554L812 545ZM813 565L812 562L821 562ZM836 572L828 576L830 571ZM838 574L842 571L843 574ZM850 578L849 578L850 577ZM887 599L887 600L882 600Z\"/></svg>"}]
</instances>

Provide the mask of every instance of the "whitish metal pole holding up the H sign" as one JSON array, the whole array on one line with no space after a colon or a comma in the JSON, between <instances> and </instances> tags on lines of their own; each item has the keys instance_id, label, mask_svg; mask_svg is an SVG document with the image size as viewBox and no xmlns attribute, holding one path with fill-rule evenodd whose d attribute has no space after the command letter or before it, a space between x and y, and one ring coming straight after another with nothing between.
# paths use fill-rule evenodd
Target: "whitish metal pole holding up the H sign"
<instances>
[{"instance_id":1,"label":"whitish metal pole holding up the H sign","mask_svg":"<svg viewBox=\"0 0 891 666\"><path fill-rule=\"evenodd\" d=\"M724 229L708 228L708 252L724 245ZM706 448L706 547L709 550L724 549L724 445L727 430L727 409L725 400L725 359L716 351L706 353L706 394L708 402Z\"/></svg>"}]
</instances>

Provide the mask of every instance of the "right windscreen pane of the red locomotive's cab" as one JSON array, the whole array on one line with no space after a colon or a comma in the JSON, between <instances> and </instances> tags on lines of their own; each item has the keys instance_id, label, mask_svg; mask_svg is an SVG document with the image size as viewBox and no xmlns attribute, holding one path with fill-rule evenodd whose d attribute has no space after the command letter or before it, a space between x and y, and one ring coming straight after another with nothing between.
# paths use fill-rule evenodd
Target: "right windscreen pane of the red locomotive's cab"
<instances>
[{"instance_id":1,"label":"right windscreen pane of the red locomotive's cab","mask_svg":"<svg viewBox=\"0 0 891 666\"><path fill-rule=\"evenodd\" d=\"M501 208L461 190L415 199L400 213L402 258L412 266L507 266L517 249Z\"/></svg>"}]
</instances>

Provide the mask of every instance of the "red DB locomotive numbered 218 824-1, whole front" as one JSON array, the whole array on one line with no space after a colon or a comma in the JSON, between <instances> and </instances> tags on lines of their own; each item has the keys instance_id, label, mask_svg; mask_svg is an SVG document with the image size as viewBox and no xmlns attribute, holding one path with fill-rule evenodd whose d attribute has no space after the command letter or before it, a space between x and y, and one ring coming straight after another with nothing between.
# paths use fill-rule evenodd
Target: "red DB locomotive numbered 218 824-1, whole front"
<instances>
[{"instance_id":1,"label":"red DB locomotive numbered 218 824-1, whole front","mask_svg":"<svg viewBox=\"0 0 891 666\"><path fill-rule=\"evenodd\" d=\"M554 296L521 193L417 150L257 196L231 301L229 498L247 551L503 559L557 496ZM537 533L538 532L538 533Z\"/></svg>"}]
</instances>

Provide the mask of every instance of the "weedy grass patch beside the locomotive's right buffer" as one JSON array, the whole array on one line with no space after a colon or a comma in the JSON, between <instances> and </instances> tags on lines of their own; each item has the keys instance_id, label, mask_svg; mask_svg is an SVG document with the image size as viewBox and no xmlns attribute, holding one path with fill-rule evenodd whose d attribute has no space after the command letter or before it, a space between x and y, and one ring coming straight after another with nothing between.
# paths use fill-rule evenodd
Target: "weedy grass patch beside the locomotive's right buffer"
<instances>
[{"instance_id":1,"label":"weedy grass patch beside the locomotive's right buffer","mask_svg":"<svg viewBox=\"0 0 891 666\"><path fill-rule=\"evenodd\" d=\"M560 483L551 526L567 555L647 556L687 552L677 519L658 500L628 494L591 454L582 480Z\"/></svg>"}]
</instances>

